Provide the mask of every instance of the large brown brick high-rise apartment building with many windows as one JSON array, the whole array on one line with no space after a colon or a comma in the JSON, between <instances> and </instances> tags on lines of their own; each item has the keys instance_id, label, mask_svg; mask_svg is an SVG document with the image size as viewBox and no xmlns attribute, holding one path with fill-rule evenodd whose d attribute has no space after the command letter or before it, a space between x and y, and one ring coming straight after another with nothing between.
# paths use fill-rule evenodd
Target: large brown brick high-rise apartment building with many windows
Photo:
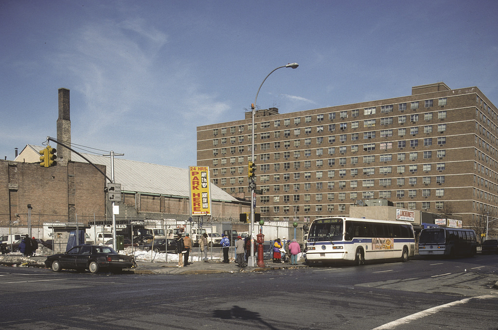
<instances>
[{"instance_id":1,"label":"large brown brick high-rise apartment building with many windows","mask_svg":"<svg viewBox=\"0 0 498 330\"><path fill-rule=\"evenodd\" d=\"M250 199L251 113L197 128L197 165ZM445 83L408 96L292 113L258 110L256 212L265 220L348 215L359 200L462 216L497 216L498 110L477 88ZM489 213L488 213L489 212Z\"/></svg>"}]
</instances>

